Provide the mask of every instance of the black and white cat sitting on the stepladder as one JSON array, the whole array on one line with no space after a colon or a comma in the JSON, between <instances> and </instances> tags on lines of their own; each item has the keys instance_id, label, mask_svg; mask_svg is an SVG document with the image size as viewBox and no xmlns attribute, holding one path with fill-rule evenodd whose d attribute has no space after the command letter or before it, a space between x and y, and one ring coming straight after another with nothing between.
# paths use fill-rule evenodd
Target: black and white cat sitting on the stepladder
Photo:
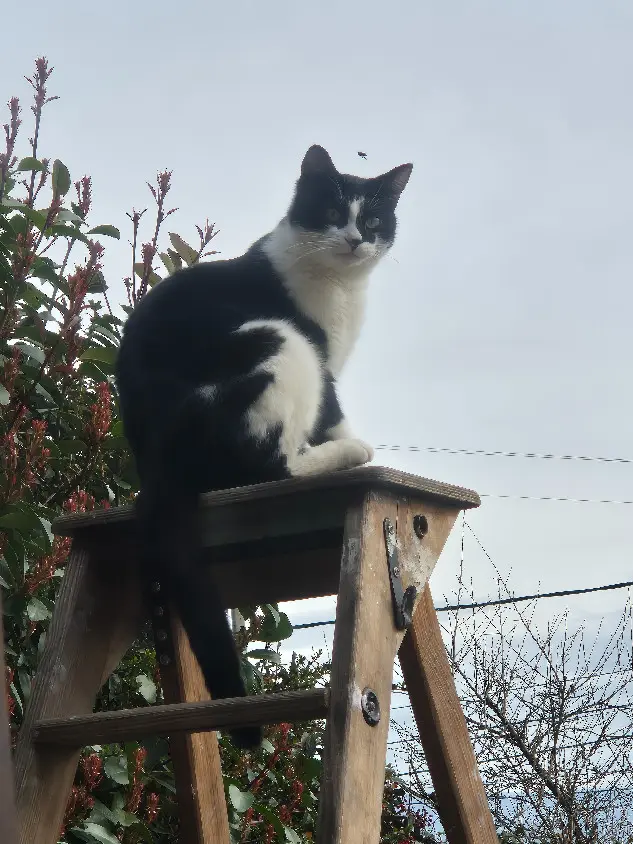
<instances>
[{"instance_id":1,"label":"black and white cat sitting on the stepladder","mask_svg":"<svg viewBox=\"0 0 633 844\"><path fill-rule=\"evenodd\" d=\"M245 694L226 614L196 544L198 494L367 463L336 395L368 277L393 245L412 165L339 173L311 147L290 209L241 257L161 282L132 312L117 363L139 477L146 575L164 583L214 698ZM233 733L241 746L258 729Z\"/></svg>"}]
</instances>

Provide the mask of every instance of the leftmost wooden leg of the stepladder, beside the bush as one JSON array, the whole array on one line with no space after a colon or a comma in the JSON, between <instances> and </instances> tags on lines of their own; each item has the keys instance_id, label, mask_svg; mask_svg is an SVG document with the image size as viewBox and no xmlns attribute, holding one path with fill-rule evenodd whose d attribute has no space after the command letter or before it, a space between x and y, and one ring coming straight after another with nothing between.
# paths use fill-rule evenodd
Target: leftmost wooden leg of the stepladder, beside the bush
<instances>
[{"instance_id":1,"label":"leftmost wooden leg of the stepladder, beside the bush","mask_svg":"<svg viewBox=\"0 0 633 844\"><path fill-rule=\"evenodd\" d=\"M136 566L76 538L18 737L20 844L58 841L80 755L79 748L36 751L33 724L92 712L97 692L134 641L141 618Z\"/></svg>"}]
</instances>

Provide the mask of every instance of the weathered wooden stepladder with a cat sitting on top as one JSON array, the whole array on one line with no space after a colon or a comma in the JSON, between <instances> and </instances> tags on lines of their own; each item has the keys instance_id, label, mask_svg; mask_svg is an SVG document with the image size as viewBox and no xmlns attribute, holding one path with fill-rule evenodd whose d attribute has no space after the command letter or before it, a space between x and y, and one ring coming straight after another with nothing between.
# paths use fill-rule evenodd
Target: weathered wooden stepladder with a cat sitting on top
<instances>
[{"instance_id":1,"label":"weathered wooden stepladder with a cat sitting on top","mask_svg":"<svg viewBox=\"0 0 633 844\"><path fill-rule=\"evenodd\" d=\"M72 536L16 754L21 844L54 844L80 749L168 735L181 844L228 844L213 730L327 718L317 844L377 844L399 655L451 844L497 841L427 581L476 493L366 467L210 493L200 524L225 606L338 595L329 689L211 701L153 584L165 705L92 712L147 614L131 508L64 517Z\"/></svg>"}]
</instances>

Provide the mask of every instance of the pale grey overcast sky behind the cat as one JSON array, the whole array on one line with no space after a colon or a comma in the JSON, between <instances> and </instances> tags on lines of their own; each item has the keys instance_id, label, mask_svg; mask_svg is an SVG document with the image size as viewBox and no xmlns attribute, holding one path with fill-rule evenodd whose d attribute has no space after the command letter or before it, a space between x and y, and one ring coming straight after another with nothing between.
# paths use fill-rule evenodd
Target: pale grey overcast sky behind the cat
<instances>
[{"instance_id":1,"label":"pale grey overcast sky behind the cat","mask_svg":"<svg viewBox=\"0 0 633 844\"><path fill-rule=\"evenodd\" d=\"M2 97L26 105L22 77L48 56L61 99L41 149L73 177L93 176L95 223L124 230L124 212L151 201L146 180L169 168L180 209L170 228L190 238L208 216L232 256L283 215L310 144L359 175L414 162L342 379L360 436L633 457L630 2L29 8L19 37L3 38ZM127 248L108 253L122 291ZM376 462L481 493L633 499L630 464L424 451ZM626 504L484 498L468 518L521 593L630 579L632 515ZM452 589L458 539L433 576L436 600ZM465 565L479 597L494 592L472 539ZM569 607L591 624L625 598ZM564 606L543 604L545 615ZM323 613L321 603L293 617Z\"/></svg>"}]
</instances>

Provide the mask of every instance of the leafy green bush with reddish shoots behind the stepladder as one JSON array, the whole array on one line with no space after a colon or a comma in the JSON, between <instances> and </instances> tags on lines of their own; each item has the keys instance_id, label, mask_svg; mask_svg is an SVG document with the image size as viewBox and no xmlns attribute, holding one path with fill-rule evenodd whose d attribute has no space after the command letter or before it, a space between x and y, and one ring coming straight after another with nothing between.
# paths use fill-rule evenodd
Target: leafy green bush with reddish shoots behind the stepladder
<instances>
[{"instance_id":1,"label":"leafy green bush with reddish shoots behind the stepladder","mask_svg":"<svg viewBox=\"0 0 633 844\"><path fill-rule=\"evenodd\" d=\"M197 227L195 248L169 233L170 245L161 251L165 220L176 209L166 208L171 173L159 173L149 184L155 212L151 237L143 242L141 236L146 211L130 212L133 275L111 298L104 244L120 233L110 224L93 224L90 177L73 183L61 160L42 155L42 114L57 97L48 93L52 68L47 60L35 64L28 79L34 126L27 155L17 155L17 98L9 101L6 148L0 154L0 585L14 738L69 553L69 540L52 536L51 520L61 512L124 504L137 490L113 383L124 312L160 282L158 260L171 273L213 255L216 236L207 222ZM119 305L121 300L126 304ZM279 648L270 645L290 636L292 628L278 607L244 613L238 644L252 691L327 682L329 665L320 654L294 655L289 666L281 664ZM251 649L258 641L264 648ZM146 634L101 690L97 708L160 699ZM312 837L322 738L323 724L282 724L269 729L261 750L249 755L221 739L235 841ZM164 740L86 748L60 837L101 844L175 842L174 794ZM419 819L393 782L385 795L383 840L424 840Z\"/></svg>"}]
</instances>

